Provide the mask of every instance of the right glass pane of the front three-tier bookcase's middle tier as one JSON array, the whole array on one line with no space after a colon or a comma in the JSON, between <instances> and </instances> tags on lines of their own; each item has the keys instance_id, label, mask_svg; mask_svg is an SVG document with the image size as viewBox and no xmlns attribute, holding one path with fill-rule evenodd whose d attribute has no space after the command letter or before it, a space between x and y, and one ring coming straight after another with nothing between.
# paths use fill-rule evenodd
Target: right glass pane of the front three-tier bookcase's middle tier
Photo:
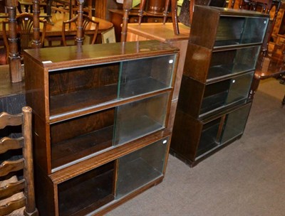
<instances>
[{"instance_id":1,"label":"right glass pane of the front three-tier bookcase's middle tier","mask_svg":"<svg viewBox=\"0 0 285 216\"><path fill-rule=\"evenodd\" d=\"M163 129L168 100L165 93L117 107L114 145Z\"/></svg>"}]
</instances>

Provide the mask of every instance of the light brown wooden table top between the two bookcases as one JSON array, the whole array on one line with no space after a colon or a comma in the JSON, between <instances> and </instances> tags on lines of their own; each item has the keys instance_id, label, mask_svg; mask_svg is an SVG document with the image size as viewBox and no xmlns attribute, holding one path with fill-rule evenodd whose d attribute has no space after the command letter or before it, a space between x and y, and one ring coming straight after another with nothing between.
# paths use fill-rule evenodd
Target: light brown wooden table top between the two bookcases
<instances>
[{"instance_id":1,"label":"light brown wooden table top between the two bookcases","mask_svg":"<svg viewBox=\"0 0 285 216\"><path fill-rule=\"evenodd\" d=\"M178 23L180 35L175 35L172 23L128 23L128 33L135 33L150 40L162 42L188 40L190 36L190 27Z\"/></svg>"}]
</instances>

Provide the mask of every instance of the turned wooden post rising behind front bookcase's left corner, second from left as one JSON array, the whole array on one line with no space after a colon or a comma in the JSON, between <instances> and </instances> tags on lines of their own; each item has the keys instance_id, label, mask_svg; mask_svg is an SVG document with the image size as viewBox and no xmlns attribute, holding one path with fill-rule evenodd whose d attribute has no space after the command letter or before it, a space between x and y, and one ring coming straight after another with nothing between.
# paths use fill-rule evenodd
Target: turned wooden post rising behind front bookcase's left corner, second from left
<instances>
[{"instance_id":1,"label":"turned wooden post rising behind front bookcase's left corner, second from left","mask_svg":"<svg viewBox=\"0 0 285 216\"><path fill-rule=\"evenodd\" d=\"M33 41L32 48L41 48L41 35L40 35L40 6L38 0L33 0Z\"/></svg>"}]
</instances>

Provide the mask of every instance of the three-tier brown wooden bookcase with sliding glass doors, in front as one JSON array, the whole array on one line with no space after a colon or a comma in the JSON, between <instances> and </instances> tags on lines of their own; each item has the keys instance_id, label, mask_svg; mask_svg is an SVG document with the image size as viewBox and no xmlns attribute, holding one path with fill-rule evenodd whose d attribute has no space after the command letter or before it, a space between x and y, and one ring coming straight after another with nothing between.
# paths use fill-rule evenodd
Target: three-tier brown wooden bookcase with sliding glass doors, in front
<instances>
[{"instance_id":1,"label":"three-tier brown wooden bookcase with sliding glass doors, in front","mask_svg":"<svg viewBox=\"0 0 285 216\"><path fill-rule=\"evenodd\" d=\"M178 55L158 41L26 50L41 214L102 214L162 181Z\"/></svg>"}]
</instances>

